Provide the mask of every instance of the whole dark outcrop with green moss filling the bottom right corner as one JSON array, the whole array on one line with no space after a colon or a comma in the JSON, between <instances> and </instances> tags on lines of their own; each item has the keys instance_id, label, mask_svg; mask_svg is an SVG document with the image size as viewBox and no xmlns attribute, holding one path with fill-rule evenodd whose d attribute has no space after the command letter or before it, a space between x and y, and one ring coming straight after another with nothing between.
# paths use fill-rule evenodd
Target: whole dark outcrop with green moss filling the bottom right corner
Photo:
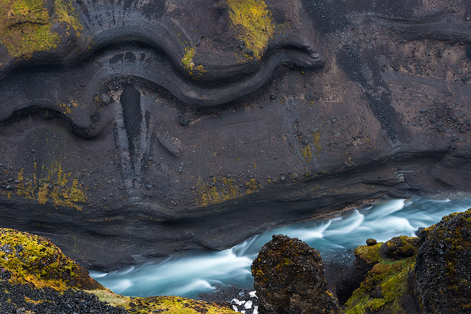
<instances>
[{"instance_id":1,"label":"whole dark outcrop with green moss filling the bottom right corner","mask_svg":"<svg viewBox=\"0 0 471 314\"><path fill-rule=\"evenodd\" d=\"M345 303L346 314L471 313L471 209L419 236L355 249L357 262L372 268Z\"/></svg>"}]
</instances>

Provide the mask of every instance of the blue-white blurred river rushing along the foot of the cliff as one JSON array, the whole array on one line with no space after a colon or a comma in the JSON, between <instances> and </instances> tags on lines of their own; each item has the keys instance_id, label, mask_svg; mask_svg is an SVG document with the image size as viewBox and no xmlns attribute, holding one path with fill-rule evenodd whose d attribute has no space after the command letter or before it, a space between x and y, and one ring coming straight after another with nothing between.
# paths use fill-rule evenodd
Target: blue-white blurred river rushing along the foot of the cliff
<instances>
[{"instance_id":1,"label":"blue-white blurred river rushing along the foot of the cliff","mask_svg":"<svg viewBox=\"0 0 471 314\"><path fill-rule=\"evenodd\" d=\"M273 234L298 238L318 249L322 258L353 256L368 238L385 242L392 237L415 236L454 212L471 208L471 198L455 200L396 199L343 213L276 227L223 251L191 250L158 263L132 266L110 273L90 270L90 276L115 293L132 296L180 295L195 298L217 287L253 290L250 265Z\"/></svg>"}]
</instances>

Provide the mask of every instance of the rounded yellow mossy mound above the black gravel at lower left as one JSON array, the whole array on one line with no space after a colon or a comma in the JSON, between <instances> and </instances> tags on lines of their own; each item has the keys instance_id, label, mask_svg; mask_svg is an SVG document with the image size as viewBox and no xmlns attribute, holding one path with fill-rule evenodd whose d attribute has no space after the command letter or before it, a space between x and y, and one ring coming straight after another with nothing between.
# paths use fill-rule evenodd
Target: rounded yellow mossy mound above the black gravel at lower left
<instances>
[{"instance_id":1,"label":"rounded yellow mossy mound above the black gravel at lower left","mask_svg":"<svg viewBox=\"0 0 471 314\"><path fill-rule=\"evenodd\" d=\"M18 230L0 228L0 267L10 272L12 285L104 289L49 239Z\"/></svg>"}]
</instances>

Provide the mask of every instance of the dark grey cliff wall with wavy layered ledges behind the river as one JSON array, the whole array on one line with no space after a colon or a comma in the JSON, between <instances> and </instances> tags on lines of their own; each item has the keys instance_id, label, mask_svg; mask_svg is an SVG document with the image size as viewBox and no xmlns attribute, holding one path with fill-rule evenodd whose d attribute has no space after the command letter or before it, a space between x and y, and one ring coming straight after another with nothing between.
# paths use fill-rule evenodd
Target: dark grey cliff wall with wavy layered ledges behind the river
<instances>
[{"instance_id":1,"label":"dark grey cliff wall with wavy layered ledges behind the river","mask_svg":"<svg viewBox=\"0 0 471 314\"><path fill-rule=\"evenodd\" d=\"M0 4L0 226L111 269L471 191L469 1L225 2Z\"/></svg>"}]
</instances>

